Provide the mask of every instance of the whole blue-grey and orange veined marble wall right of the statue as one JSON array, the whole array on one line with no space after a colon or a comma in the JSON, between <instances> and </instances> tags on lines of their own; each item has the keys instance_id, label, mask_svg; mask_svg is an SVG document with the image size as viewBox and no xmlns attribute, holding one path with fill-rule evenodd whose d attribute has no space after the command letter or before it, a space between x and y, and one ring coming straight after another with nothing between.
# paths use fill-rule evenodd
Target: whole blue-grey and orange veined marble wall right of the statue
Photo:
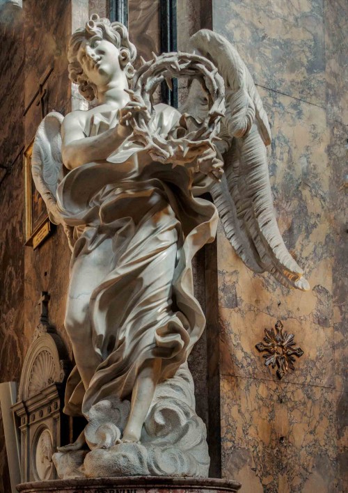
<instances>
[{"instance_id":1,"label":"whole blue-grey and orange veined marble wall right of the statue","mask_svg":"<svg viewBox=\"0 0 348 493\"><path fill-rule=\"evenodd\" d=\"M269 116L278 224L311 286L253 274L219 231L222 475L243 492L345 490L347 18L340 0L212 1ZM255 349L277 319L304 351L281 382Z\"/></svg>"}]
</instances>

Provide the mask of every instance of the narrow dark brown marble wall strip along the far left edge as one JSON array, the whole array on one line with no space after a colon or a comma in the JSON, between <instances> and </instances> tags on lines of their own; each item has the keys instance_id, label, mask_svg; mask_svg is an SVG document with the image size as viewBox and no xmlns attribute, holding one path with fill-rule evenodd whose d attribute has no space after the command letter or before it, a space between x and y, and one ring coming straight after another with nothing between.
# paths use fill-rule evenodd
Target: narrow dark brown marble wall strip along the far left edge
<instances>
[{"instance_id":1,"label":"narrow dark brown marble wall strip along the far left edge","mask_svg":"<svg viewBox=\"0 0 348 493\"><path fill-rule=\"evenodd\" d=\"M0 382L18 379L24 359L24 35L19 6L0 6ZM10 491L10 475L0 412L0 492Z\"/></svg>"}]
</instances>

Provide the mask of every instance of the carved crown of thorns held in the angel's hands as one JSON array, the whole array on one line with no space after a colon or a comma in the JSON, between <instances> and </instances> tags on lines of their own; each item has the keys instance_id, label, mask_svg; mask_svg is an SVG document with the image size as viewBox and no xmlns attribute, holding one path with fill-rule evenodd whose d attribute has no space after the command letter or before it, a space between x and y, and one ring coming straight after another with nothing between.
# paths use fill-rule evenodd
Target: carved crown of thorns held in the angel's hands
<instances>
[{"instance_id":1,"label":"carved crown of thorns held in the angel's hands","mask_svg":"<svg viewBox=\"0 0 348 493\"><path fill-rule=\"evenodd\" d=\"M136 113L131 121L132 140L143 143L152 159L159 162L171 162L174 166L191 162L202 146L212 148L212 142L220 140L217 136L219 120L225 111L223 78L213 63L203 56L182 52L152 56L148 62L141 58L142 66L136 72L132 91L128 91L131 100L139 102L143 107L143 111ZM179 122L181 127L193 127L194 130L187 130L180 136L175 131L163 136L153 125L153 93L163 81L173 89L173 77L198 79L207 95L209 110L202 122L187 114L182 115ZM188 120L194 120L194 125L187 125Z\"/></svg>"}]
</instances>

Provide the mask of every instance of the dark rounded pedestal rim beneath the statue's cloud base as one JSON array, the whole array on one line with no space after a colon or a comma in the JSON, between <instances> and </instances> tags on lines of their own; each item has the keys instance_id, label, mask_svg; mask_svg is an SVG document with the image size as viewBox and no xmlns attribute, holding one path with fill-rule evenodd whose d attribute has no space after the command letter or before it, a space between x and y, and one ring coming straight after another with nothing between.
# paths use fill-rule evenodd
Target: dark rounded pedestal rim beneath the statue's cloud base
<instances>
[{"instance_id":1,"label":"dark rounded pedestal rim beneath the statue's cloud base","mask_svg":"<svg viewBox=\"0 0 348 493\"><path fill-rule=\"evenodd\" d=\"M237 481L227 479L135 476L37 481L17 485L17 490L20 493L225 493L237 492L240 487Z\"/></svg>"}]
</instances>

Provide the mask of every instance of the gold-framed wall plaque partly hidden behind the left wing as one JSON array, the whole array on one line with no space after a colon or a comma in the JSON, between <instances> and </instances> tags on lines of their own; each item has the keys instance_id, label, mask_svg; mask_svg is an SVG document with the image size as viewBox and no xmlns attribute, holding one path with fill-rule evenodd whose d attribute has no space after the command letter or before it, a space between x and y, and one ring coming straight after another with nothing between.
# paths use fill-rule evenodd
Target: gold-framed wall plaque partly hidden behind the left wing
<instances>
[{"instance_id":1,"label":"gold-framed wall plaque partly hidden behind the left wing","mask_svg":"<svg viewBox=\"0 0 348 493\"><path fill-rule=\"evenodd\" d=\"M25 244L37 248L53 230L45 202L35 188L31 175L33 141L24 150L24 233Z\"/></svg>"}]
</instances>

